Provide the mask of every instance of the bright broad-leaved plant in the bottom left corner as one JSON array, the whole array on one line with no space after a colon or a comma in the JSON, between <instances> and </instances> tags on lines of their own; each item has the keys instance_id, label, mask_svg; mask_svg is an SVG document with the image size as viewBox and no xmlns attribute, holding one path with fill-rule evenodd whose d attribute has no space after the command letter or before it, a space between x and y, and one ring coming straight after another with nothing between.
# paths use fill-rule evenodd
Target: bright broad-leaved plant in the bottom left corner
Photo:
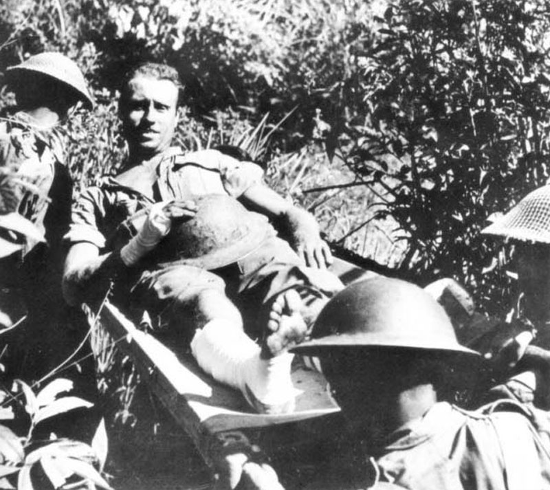
<instances>
[{"instance_id":1,"label":"bright broad-leaved plant in the bottom left corner","mask_svg":"<svg viewBox=\"0 0 550 490\"><path fill-rule=\"evenodd\" d=\"M32 490L43 477L52 488L100 488L110 490L100 471L107 458L107 433L100 423L91 445L49 434L41 440L38 429L57 416L72 410L90 408L91 403L72 396L72 381L58 378L34 394L23 381L14 391L0 390L0 489ZM28 422L24 423L25 419ZM9 427L8 427L9 425ZM11 427L11 428L10 428ZM19 434L19 435L17 435ZM99 471L98 471L99 469Z\"/></svg>"}]
</instances>

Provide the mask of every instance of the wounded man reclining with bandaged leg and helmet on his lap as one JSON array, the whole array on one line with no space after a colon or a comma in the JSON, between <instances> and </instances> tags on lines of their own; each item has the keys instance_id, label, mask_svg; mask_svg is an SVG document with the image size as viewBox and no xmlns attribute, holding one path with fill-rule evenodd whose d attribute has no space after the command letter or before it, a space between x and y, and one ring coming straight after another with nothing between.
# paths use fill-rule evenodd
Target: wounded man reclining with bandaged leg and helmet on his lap
<instances>
[{"instance_id":1,"label":"wounded man reclining with bandaged leg and helmet on his lap","mask_svg":"<svg viewBox=\"0 0 550 490\"><path fill-rule=\"evenodd\" d=\"M124 79L129 157L74 206L65 299L94 305L110 291L126 311L181 333L201 368L256 410L292 410L287 350L342 283L327 271L313 216L263 185L259 166L170 146L179 89L166 65L139 65Z\"/></svg>"}]
</instances>

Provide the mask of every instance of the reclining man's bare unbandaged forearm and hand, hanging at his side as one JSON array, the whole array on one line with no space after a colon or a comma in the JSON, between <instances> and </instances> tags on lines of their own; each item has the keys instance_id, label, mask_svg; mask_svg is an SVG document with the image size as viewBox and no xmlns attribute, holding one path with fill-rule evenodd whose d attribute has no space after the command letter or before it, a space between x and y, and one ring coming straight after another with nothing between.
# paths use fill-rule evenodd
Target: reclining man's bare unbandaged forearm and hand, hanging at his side
<instances>
[{"instance_id":1,"label":"reclining man's bare unbandaged forearm and hand, hanging at his side","mask_svg":"<svg viewBox=\"0 0 550 490\"><path fill-rule=\"evenodd\" d=\"M247 208L274 220L307 265L324 269L332 263L329 245L320 237L319 225L311 213L261 184L245 190L239 199Z\"/></svg>"}]
</instances>

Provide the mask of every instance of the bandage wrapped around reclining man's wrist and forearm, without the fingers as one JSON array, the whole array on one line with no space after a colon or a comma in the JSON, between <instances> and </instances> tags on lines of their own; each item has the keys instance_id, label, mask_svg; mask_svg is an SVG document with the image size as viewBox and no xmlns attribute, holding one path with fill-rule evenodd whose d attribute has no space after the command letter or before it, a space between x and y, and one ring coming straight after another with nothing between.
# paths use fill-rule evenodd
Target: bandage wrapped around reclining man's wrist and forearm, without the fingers
<instances>
[{"instance_id":1,"label":"bandage wrapped around reclining man's wrist and forearm, without the fingers","mask_svg":"<svg viewBox=\"0 0 550 490\"><path fill-rule=\"evenodd\" d=\"M164 206L166 202L153 204L142 229L120 249L120 258L126 266L137 263L170 232L172 220L166 216Z\"/></svg>"}]
</instances>

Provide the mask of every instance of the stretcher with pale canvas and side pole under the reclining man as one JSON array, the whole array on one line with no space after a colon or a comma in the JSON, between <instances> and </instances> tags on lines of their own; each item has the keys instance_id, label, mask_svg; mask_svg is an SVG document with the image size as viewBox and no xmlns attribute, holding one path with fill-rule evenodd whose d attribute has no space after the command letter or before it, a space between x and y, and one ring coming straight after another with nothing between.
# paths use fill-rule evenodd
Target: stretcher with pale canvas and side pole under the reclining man
<instances>
[{"instance_id":1,"label":"stretcher with pale canvas and side pole under the reclining man","mask_svg":"<svg viewBox=\"0 0 550 490\"><path fill-rule=\"evenodd\" d=\"M365 275L364 269L344 260L335 259L332 267L344 284ZM318 434L339 423L339 409L327 393L324 377L299 357L292 368L292 380L298 389L294 412L258 414L252 412L239 391L202 372L190 353L170 348L140 330L115 305L104 305L100 323L131 356L142 381L190 436L214 472L213 454L222 448L225 454L232 451L232 446L241 452L243 444L256 444L265 432L270 436L263 441L278 443L276 434L285 432L278 431L283 426L303 425L308 434Z\"/></svg>"}]
</instances>

